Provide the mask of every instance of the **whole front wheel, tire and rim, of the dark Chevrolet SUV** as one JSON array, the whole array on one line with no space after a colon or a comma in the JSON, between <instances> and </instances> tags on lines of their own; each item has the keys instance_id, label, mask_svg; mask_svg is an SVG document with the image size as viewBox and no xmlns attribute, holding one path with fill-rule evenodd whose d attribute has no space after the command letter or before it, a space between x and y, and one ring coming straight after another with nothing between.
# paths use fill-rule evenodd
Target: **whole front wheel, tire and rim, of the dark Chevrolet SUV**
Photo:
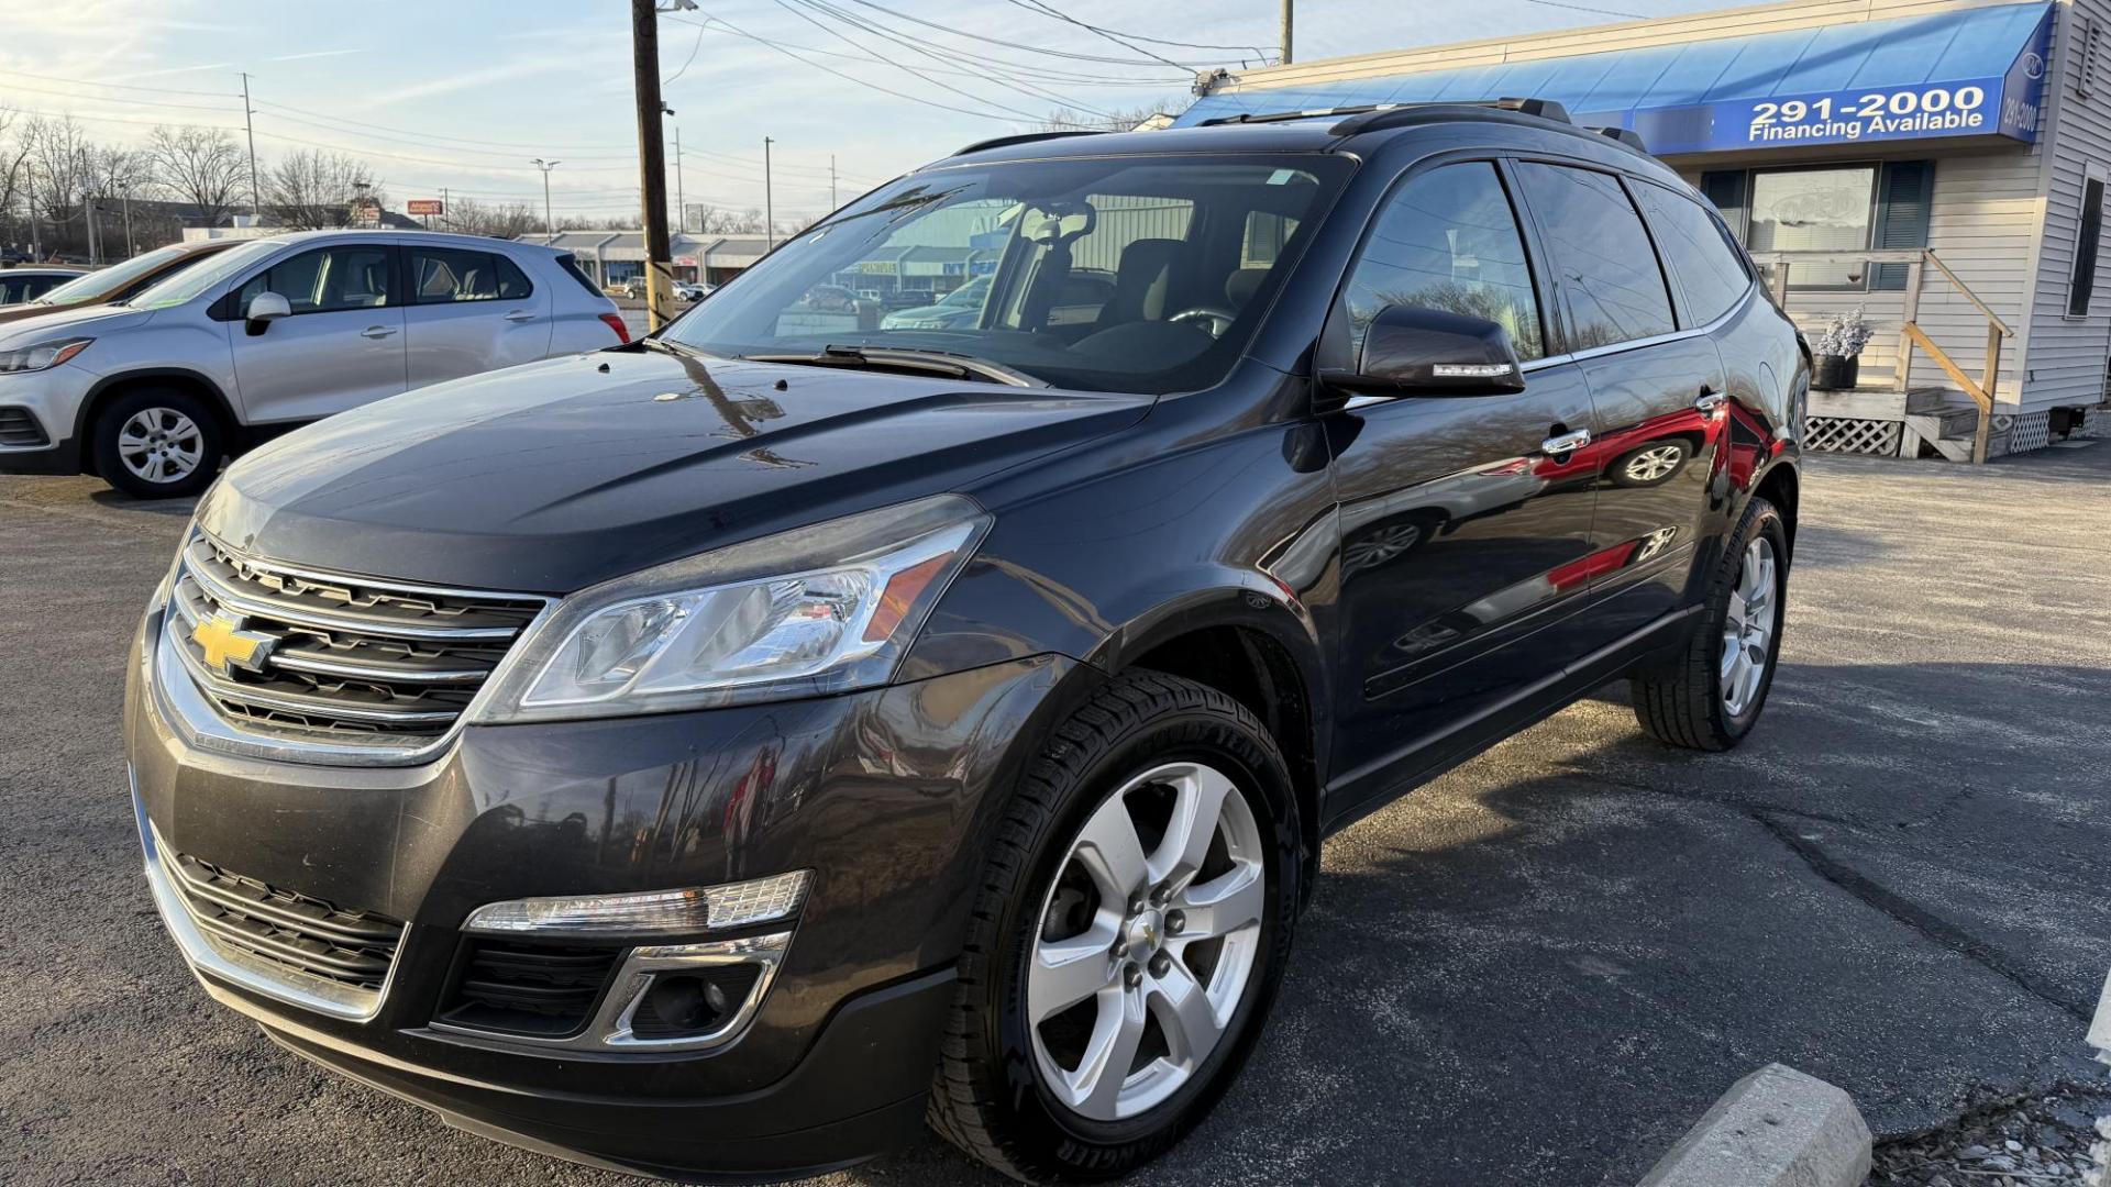
<instances>
[{"instance_id":1,"label":"whole front wheel, tire and rim, of the dark Chevrolet SUV","mask_svg":"<svg viewBox=\"0 0 2111 1187\"><path fill-rule=\"evenodd\" d=\"M1172 1149L1260 1031L1298 862L1290 773L1250 712L1155 672L1108 682L996 830L931 1126L1026 1181Z\"/></svg>"}]
</instances>

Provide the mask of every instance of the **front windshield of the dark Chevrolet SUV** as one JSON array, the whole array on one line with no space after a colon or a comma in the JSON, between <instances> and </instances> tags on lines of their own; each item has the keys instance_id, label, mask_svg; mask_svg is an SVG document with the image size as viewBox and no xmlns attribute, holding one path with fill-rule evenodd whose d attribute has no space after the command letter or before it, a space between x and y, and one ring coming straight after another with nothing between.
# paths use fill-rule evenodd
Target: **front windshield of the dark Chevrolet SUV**
<instances>
[{"instance_id":1,"label":"front windshield of the dark Chevrolet SUV","mask_svg":"<svg viewBox=\"0 0 2111 1187\"><path fill-rule=\"evenodd\" d=\"M1245 351L1349 169L1324 154L933 169L785 243L663 336L730 357L942 351L1068 389L1195 391ZM929 291L963 313L889 317Z\"/></svg>"}]
</instances>

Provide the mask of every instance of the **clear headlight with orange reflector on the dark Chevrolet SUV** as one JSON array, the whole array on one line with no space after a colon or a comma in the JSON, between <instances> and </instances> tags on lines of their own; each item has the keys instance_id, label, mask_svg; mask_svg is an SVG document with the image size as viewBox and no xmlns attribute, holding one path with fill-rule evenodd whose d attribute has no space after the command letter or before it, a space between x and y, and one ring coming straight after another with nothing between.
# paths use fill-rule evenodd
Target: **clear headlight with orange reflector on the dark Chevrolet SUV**
<instances>
[{"instance_id":1,"label":"clear headlight with orange reflector on the dark Chevrolet SUV","mask_svg":"<svg viewBox=\"0 0 2111 1187\"><path fill-rule=\"evenodd\" d=\"M477 722L813 697L885 684L988 515L956 494L678 560L559 602Z\"/></svg>"}]
</instances>

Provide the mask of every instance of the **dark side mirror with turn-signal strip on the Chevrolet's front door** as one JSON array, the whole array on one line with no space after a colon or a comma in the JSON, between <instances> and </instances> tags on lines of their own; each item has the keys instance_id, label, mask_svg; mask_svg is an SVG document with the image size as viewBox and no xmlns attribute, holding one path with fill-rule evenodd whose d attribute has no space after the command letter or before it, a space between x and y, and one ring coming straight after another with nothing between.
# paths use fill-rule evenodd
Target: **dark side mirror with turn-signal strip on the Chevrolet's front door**
<instances>
[{"instance_id":1,"label":"dark side mirror with turn-signal strip on the Chevrolet's front door","mask_svg":"<svg viewBox=\"0 0 2111 1187\"><path fill-rule=\"evenodd\" d=\"M1389 304L1364 332L1349 374L1328 384L1362 395L1507 395L1524 391L1509 332L1486 317Z\"/></svg>"}]
</instances>

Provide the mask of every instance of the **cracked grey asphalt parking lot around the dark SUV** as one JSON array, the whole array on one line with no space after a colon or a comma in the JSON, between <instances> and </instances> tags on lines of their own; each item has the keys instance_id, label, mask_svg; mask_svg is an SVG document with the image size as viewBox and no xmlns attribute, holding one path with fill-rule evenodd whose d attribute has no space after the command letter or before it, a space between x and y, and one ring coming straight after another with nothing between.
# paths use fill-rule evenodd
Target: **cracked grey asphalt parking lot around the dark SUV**
<instances>
[{"instance_id":1,"label":"cracked grey asphalt parking lot around the dark SUV","mask_svg":"<svg viewBox=\"0 0 2111 1187\"><path fill-rule=\"evenodd\" d=\"M2111 441L1805 488L1758 733L1674 754L1613 686L1336 836L1254 1064L1136 1183L1632 1183L1769 1060L1879 1136L2100 1081ZM0 1183L625 1183L315 1071L190 982L118 748L182 524L0 477ZM830 1183L994 1179L927 1138Z\"/></svg>"}]
</instances>

